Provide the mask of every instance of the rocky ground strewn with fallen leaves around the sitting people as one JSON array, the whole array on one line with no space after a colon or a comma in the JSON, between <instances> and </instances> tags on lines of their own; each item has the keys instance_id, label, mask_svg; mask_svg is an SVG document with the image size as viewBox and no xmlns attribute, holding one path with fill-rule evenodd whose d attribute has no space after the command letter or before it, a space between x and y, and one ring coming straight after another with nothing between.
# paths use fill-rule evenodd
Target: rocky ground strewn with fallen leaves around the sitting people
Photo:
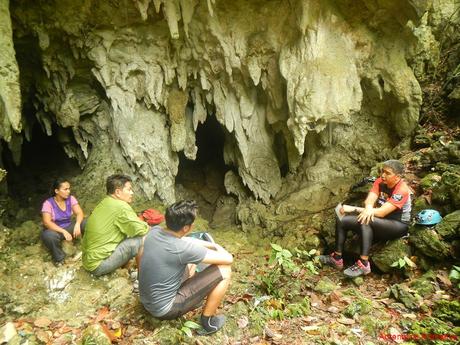
<instances>
[{"instance_id":1,"label":"rocky ground strewn with fallen leaves around the sitting people","mask_svg":"<svg viewBox=\"0 0 460 345\"><path fill-rule=\"evenodd\" d=\"M126 269L93 278L81 267L78 244L65 245L54 267L38 243L34 222L3 229L0 342L8 344L382 344L393 337L460 337L458 286L446 267L427 273L394 270L351 281L317 269L313 253L292 257L267 239L238 229L213 231L235 255L233 284L222 307L225 329L210 337L194 330L198 313L177 321L150 317ZM269 262L280 253L281 261ZM407 267L406 267L407 268ZM455 282L455 281L454 281ZM456 327L456 328L455 328ZM406 337L406 338L405 338ZM444 337L444 340L440 340ZM421 339L421 338L420 338Z\"/></svg>"}]
</instances>

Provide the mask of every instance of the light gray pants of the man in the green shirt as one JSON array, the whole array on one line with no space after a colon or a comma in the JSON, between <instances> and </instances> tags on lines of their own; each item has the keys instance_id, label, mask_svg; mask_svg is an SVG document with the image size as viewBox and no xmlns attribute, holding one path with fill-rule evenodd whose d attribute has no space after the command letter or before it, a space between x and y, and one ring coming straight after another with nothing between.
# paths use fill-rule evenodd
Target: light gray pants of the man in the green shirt
<instances>
[{"instance_id":1,"label":"light gray pants of the man in the green shirt","mask_svg":"<svg viewBox=\"0 0 460 345\"><path fill-rule=\"evenodd\" d=\"M107 259L102 261L91 273L98 277L111 273L117 268L124 266L129 260L137 255L139 249L142 247L142 243L142 236L124 239L118 244L113 253Z\"/></svg>"}]
</instances>

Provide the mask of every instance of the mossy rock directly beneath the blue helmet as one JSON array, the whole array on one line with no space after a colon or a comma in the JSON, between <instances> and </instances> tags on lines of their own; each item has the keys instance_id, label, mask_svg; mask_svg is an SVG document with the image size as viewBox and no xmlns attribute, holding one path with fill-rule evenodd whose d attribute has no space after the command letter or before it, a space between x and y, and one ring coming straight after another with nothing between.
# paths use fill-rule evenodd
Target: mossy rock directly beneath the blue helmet
<instances>
[{"instance_id":1,"label":"mossy rock directly beneath the blue helmet","mask_svg":"<svg viewBox=\"0 0 460 345\"><path fill-rule=\"evenodd\" d=\"M442 241L433 227L414 226L410 229L409 242L423 255L441 260L449 257L450 245Z\"/></svg>"}]
</instances>

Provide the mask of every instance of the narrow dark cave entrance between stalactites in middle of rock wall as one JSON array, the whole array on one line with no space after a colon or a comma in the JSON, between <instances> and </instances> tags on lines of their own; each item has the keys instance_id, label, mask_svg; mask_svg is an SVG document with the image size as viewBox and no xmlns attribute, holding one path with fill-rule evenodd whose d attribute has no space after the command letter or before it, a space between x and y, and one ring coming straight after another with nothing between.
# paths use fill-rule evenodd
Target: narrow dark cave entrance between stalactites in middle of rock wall
<instances>
[{"instance_id":1,"label":"narrow dark cave entrance between stalactites in middle of rock wall","mask_svg":"<svg viewBox=\"0 0 460 345\"><path fill-rule=\"evenodd\" d=\"M208 116L198 125L195 137L196 159L179 154L176 199L196 200L200 215L211 221L217 200L225 194L224 176L230 168L223 156L225 132L215 116Z\"/></svg>"}]
</instances>

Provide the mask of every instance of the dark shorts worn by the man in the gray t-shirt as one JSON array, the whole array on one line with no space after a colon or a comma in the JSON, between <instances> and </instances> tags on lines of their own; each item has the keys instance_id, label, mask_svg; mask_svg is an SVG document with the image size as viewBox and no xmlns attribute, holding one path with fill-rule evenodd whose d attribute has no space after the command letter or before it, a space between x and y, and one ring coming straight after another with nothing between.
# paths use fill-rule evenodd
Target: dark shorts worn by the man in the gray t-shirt
<instances>
[{"instance_id":1,"label":"dark shorts worn by the man in the gray t-shirt","mask_svg":"<svg viewBox=\"0 0 460 345\"><path fill-rule=\"evenodd\" d=\"M193 277L182 283L177 291L171 309L165 315L159 317L159 319L177 319L190 310L200 307L205 297L208 296L222 280L223 277L217 265L211 265L204 271L195 273Z\"/></svg>"}]
</instances>

